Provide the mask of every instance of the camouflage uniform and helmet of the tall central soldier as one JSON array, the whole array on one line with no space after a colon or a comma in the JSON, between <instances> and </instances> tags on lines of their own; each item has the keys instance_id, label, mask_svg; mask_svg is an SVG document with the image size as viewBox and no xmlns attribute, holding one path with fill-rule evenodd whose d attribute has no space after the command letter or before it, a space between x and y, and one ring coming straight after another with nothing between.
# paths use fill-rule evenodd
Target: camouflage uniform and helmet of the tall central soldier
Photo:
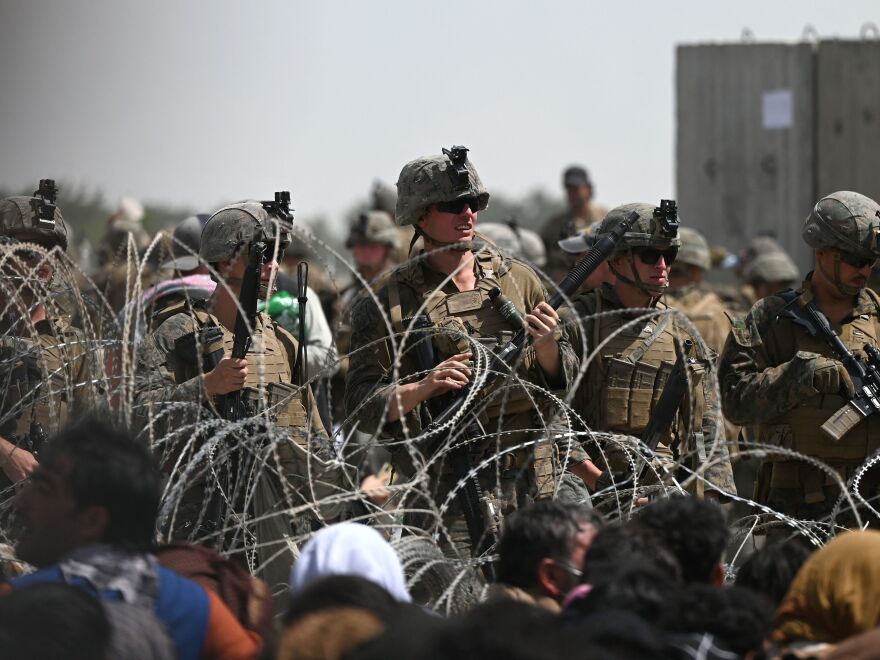
<instances>
[{"instance_id":1,"label":"camouflage uniform and helmet of the tall central soldier","mask_svg":"<svg viewBox=\"0 0 880 660\"><path fill-rule=\"evenodd\" d=\"M474 212L484 209L488 204L488 192L470 161L465 164L467 185L464 187L450 183L449 170L453 165L446 155L407 164L398 181L398 223L414 224L432 204L462 197L479 200L477 208L472 209ZM497 349L518 329L492 307L488 297L492 287L499 287L521 312L531 311L545 300L543 287L528 266L501 256L485 243L475 241L471 247L475 251L474 272L477 277L474 290L459 291L451 278L428 265L423 253L390 274L388 283L378 292L381 309L369 298L359 300L352 309L346 412L357 419L361 430L381 436L393 452L395 468L405 474L412 474L414 466L411 461L417 450L426 450L424 446L417 448L415 443L410 444L407 439L420 434L430 423L428 406L420 404L395 422L382 424L382 421L389 407L396 405L391 396L394 389L424 375L415 358L418 336L407 334L414 317L427 315L435 328L430 336L439 363L455 354L473 351L471 342L489 350ZM390 320L390 335L386 318ZM519 377L550 390L564 388L576 372L576 360L562 334L558 341L562 367L560 382L547 381L531 347L523 352L517 369ZM399 360L397 364L396 360ZM541 395L532 392L533 400L511 379L506 379L492 391L483 390L477 396L475 408L482 410L480 419L487 435L470 446L473 465L495 455L500 449L534 438L536 434L528 434L525 430L541 428L545 424L539 419L548 412ZM551 496L555 476L552 454L546 443L504 454L480 471L484 490L492 493L502 511L536 497ZM429 454L422 460L429 465L431 482L428 490L433 501L439 504L455 480L444 465L443 454ZM430 502L421 503L425 504L430 506ZM415 526L431 524L429 520L410 517L414 518L410 522ZM457 499L452 503L444 524L451 536L450 539L444 537L444 543L452 541L459 548L469 545Z\"/></svg>"}]
</instances>

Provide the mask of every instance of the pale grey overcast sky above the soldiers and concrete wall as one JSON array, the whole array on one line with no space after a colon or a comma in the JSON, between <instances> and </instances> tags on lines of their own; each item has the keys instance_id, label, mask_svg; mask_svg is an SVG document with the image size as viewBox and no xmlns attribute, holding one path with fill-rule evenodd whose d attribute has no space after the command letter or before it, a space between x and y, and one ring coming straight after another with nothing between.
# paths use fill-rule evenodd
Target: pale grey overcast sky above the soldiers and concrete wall
<instances>
[{"instance_id":1,"label":"pale grey overcast sky above the soldiers and concrete wall","mask_svg":"<svg viewBox=\"0 0 880 660\"><path fill-rule=\"evenodd\" d=\"M608 206L669 196L677 44L880 22L876 0L0 5L3 187L201 210L289 188L298 215L333 219L453 143L490 192L556 193L581 162Z\"/></svg>"}]
</instances>

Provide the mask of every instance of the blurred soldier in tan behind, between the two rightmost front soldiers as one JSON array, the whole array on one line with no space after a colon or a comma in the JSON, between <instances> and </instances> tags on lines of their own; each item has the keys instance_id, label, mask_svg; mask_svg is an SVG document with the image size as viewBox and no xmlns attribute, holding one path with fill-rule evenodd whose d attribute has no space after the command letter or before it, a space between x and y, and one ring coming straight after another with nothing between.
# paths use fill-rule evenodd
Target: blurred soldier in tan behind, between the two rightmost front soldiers
<instances>
[{"instance_id":1,"label":"blurred soldier in tan behind, between the two rightmost front soldiers","mask_svg":"<svg viewBox=\"0 0 880 660\"><path fill-rule=\"evenodd\" d=\"M669 270L666 303L693 321L706 346L720 354L730 323L724 303L703 285L710 266L709 244L700 232L690 227L682 227L678 235L681 247Z\"/></svg>"}]
</instances>

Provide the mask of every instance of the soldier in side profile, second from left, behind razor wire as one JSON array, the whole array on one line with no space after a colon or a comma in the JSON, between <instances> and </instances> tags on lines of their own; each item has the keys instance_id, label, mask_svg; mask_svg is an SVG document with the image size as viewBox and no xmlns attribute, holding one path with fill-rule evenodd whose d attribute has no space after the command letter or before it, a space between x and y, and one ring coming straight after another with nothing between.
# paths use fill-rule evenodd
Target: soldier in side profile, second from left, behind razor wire
<instances>
[{"instance_id":1,"label":"soldier in side profile, second from left, behind razor wire","mask_svg":"<svg viewBox=\"0 0 880 660\"><path fill-rule=\"evenodd\" d=\"M256 474L248 477L256 483L251 502L256 531L249 528L246 533L256 536L262 575L273 588L286 581L292 561L286 539L308 534L320 519L338 515L338 507L319 509L315 503L338 493L343 478L334 468L335 456L310 390L292 385L297 375L293 336L259 313L246 357L231 356L249 251L255 243L264 242L268 246L264 254L271 259L276 242L280 253L290 240L275 213L260 202L248 201L211 216L202 231L199 257L211 266L215 277L219 275L220 283L206 302L183 301L162 311L156 331L144 340L139 352L141 380L135 396L140 415L159 421L162 415L170 415L164 426L174 432L160 445L166 473L175 464L187 466L183 475L170 474L182 491L172 538L197 539L213 531L217 521L222 524L224 516L215 510L216 483L206 484L205 475L215 470L233 473L232 485L222 494L234 508L231 519L236 520L243 498L235 498L234 486L243 477L234 473L237 469L247 474L245 466L252 466ZM277 266L268 261L261 268L259 297L263 300ZM208 339L209 331L214 338ZM218 355L218 349L222 349L222 358L209 359ZM227 431L237 445L225 466L218 467L213 460L206 466L198 420L215 419L223 397L235 392L241 392L250 417L237 431ZM181 410L185 414L177 412ZM185 426L187 421L193 425ZM233 440L226 437L223 442L229 445ZM198 464L188 465L188 461ZM193 479L193 472L201 476ZM288 510L294 507L309 507L310 514L293 516ZM250 511L245 511L244 520L252 524Z\"/></svg>"}]
</instances>

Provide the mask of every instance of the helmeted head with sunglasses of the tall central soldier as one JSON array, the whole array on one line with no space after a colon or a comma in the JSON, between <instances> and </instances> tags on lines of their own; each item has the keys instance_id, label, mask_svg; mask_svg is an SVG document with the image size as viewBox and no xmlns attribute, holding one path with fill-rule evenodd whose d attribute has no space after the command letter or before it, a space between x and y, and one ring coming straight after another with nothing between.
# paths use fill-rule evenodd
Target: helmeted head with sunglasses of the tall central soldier
<instances>
[{"instance_id":1,"label":"helmeted head with sunglasses of the tall central soldier","mask_svg":"<svg viewBox=\"0 0 880 660\"><path fill-rule=\"evenodd\" d=\"M477 213L489 205L489 192L467 152L466 147L444 149L400 171L395 220L415 225L428 249L470 249Z\"/></svg>"}]
</instances>

